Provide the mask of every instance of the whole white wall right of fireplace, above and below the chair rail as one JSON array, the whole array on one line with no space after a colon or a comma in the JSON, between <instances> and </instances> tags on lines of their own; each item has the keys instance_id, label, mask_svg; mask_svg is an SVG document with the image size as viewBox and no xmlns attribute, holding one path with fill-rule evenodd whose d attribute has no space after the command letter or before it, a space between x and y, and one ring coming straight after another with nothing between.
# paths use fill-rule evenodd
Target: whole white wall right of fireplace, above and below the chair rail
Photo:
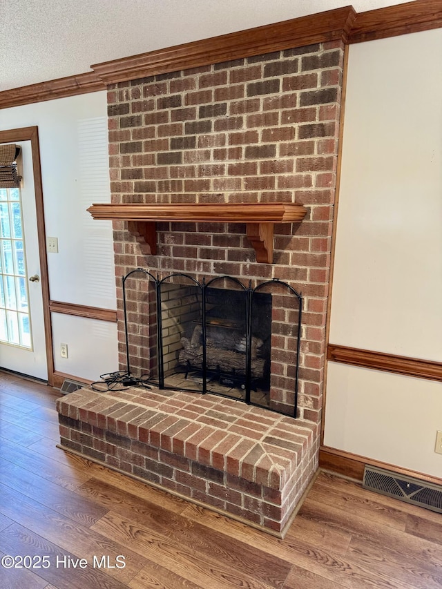
<instances>
[{"instance_id":1,"label":"whole white wall right of fireplace, above and below the chair rail","mask_svg":"<svg viewBox=\"0 0 442 589\"><path fill-rule=\"evenodd\" d=\"M349 47L329 341L442 361L442 29ZM442 476L442 383L328 363L324 445Z\"/></svg>"}]
</instances>

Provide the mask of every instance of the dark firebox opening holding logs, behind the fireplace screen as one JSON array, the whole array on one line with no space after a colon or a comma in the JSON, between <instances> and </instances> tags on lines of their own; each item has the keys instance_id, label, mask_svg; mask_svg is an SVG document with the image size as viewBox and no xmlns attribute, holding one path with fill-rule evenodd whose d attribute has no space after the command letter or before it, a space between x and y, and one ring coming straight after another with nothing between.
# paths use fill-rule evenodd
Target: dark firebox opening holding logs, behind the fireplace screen
<instances>
[{"instance_id":1,"label":"dark firebox opening holding logs, behind the fireplace screen","mask_svg":"<svg viewBox=\"0 0 442 589\"><path fill-rule=\"evenodd\" d=\"M247 400L247 346L253 404L269 407L271 294L206 288L205 322L198 287L163 285L164 386ZM247 331L250 337L247 338ZM250 343L248 343L250 342Z\"/></svg>"}]
</instances>

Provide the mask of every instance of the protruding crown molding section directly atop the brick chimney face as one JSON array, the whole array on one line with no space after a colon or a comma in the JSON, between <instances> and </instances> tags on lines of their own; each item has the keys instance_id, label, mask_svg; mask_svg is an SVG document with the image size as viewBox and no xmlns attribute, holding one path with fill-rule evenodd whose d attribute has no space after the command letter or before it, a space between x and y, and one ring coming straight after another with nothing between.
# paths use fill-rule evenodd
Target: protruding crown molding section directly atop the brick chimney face
<instances>
[{"instance_id":1,"label":"protruding crown molding section directly atop the brick chimney face","mask_svg":"<svg viewBox=\"0 0 442 589\"><path fill-rule=\"evenodd\" d=\"M116 84L324 41L340 39L347 43L355 19L356 12L352 6L347 6L124 59L114 59L91 67L106 84Z\"/></svg>"}]
</instances>

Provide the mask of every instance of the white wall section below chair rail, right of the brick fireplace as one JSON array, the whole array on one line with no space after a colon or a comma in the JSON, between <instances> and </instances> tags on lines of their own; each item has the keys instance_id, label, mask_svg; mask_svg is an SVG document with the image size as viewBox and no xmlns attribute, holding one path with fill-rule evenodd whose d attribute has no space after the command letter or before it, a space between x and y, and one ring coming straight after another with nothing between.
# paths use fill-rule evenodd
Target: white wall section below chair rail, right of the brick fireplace
<instances>
[{"instance_id":1,"label":"white wall section below chair rail, right of the brick fireplace","mask_svg":"<svg viewBox=\"0 0 442 589\"><path fill-rule=\"evenodd\" d=\"M441 383L329 362L324 443L442 478Z\"/></svg>"}]
</instances>

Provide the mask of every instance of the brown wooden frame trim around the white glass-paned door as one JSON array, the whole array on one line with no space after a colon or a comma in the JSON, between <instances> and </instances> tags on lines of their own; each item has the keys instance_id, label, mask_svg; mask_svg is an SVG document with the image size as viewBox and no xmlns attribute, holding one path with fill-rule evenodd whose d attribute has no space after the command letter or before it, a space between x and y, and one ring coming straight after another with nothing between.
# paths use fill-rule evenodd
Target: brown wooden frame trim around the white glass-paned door
<instances>
[{"instance_id":1,"label":"brown wooden frame trim around the white glass-paned door","mask_svg":"<svg viewBox=\"0 0 442 589\"><path fill-rule=\"evenodd\" d=\"M46 341L46 364L48 366L48 385L54 385L54 353L52 347L52 322L49 311L48 258L46 255L46 229L44 223L43 184L41 182L39 129L37 126L22 127L0 131L0 143L30 141L32 168L34 171L35 210L37 213L37 237L39 243L40 282L43 297L44 334Z\"/></svg>"}]
</instances>

